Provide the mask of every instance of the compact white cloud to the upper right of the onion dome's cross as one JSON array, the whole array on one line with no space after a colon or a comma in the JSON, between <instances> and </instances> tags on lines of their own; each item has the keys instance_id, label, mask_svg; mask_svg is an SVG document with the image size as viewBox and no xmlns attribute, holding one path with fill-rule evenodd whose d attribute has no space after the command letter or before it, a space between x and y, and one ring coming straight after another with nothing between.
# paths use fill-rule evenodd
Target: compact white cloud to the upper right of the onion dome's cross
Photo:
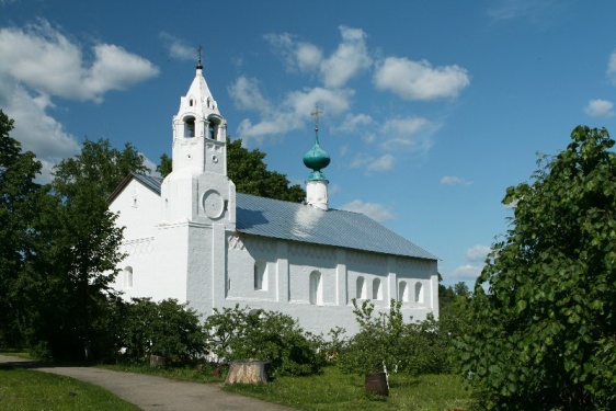
<instances>
[{"instance_id":1,"label":"compact white cloud to the upper right of the onion dome's cross","mask_svg":"<svg viewBox=\"0 0 616 411\"><path fill-rule=\"evenodd\" d=\"M391 91L404 100L456 98L470 84L466 69L459 66L433 68L426 60L387 57L375 72L378 90Z\"/></svg>"}]
</instances>

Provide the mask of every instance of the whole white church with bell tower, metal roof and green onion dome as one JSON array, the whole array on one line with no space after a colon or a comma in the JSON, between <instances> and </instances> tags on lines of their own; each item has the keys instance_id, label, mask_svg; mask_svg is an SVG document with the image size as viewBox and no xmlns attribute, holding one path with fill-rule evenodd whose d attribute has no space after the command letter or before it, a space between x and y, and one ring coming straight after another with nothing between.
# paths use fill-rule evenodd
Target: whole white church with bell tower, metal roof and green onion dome
<instances>
[{"instance_id":1,"label":"whole white church with bell tower, metal roof and green onion dome","mask_svg":"<svg viewBox=\"0 0 616 411\"><path fill-rule=\"evenodd\" d=\"M281 311L323 334L357 331L353 298L376 310L400 300L406 320L438 317L434 255L363 214L329 208L318 121L304 157L312 170L306 204L236 193L226 136L199 59L173 117L173 171L164 180L130 174L110 197L125 227L115 289L175 298L203 318L237 304Z\"/></svg>"}]
</instances>

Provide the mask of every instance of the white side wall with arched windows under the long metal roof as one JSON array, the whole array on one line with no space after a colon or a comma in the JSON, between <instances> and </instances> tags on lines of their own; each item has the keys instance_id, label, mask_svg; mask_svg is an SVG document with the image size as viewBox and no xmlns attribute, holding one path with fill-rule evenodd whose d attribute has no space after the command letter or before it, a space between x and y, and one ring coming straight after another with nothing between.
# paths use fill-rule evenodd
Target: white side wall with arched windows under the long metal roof
<instances>
[{"instance_id":1,"label":"white side wall with arched windows under the long metal roof","mask_svg":"<svg viewBox=\"0 0 616 411\"><path fill-rule=\"evenodd\" d=\"M254 264L265 262L266 286L254 288ZM402 304L406 320L423 320L435 312L437 301L436 261L380 255L332 247L287 242L256 236L228 233L225 307L239 304L252 309L276 310L300 320L307 331L327 334L335 327L357 331L352 298L356 278L363 276L367 298L377 310L388 310L390 298L398 299L400 282L409 284L410 300ZM310 301L310 273L321 274L322 299ZM399 273L398 273L399 271ZM373 299L374 281L380 282L380 299ZM230 282L230 288L228 287ZM423 302L414 298L414 284L421 283ZM434 286L436 285L436 286ZM401 298L401 297L400 297Z\"/></svg>"}]
</instances>

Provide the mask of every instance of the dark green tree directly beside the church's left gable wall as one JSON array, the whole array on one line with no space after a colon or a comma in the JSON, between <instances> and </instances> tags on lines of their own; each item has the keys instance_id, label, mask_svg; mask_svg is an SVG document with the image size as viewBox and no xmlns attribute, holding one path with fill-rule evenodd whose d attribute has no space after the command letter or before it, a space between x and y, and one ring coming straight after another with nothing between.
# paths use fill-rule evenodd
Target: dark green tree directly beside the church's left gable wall
<instances>
[{"instance_id":1,"label":"dark green tree directly beside the church's left gable wall","mask_svg":"<svg viewBox=\"0 0 616 411\"><path fill-rule=\"evenodd\" d=\"M75 158L54 168L52 195L35 219L36 255L28 262L26 295L38 307L32 342L54 357L107 355L116 293L111 284L123 255L122 229L106 198L130 171L144 172L144 158L132 145L87 140ZM109 327L112 327L110 330Z\"/></svg>"}]
</instances>

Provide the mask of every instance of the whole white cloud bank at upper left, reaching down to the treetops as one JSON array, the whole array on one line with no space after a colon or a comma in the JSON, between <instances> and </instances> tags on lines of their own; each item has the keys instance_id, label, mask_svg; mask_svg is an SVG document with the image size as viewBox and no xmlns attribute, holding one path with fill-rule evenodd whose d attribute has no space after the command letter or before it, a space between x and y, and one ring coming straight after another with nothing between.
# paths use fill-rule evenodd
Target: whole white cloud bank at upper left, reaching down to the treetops
<instances>
[{"instance_id":1,"label":"whole white cloud bank at upper left, reaching down to the treetops","mask_svg":"<svg viewBox=\"0 0 616 411\"><path fill-rule=\"evenodd\" d=\"M150 61L122 47L100 43L92 50L92 61L85 61L81 46L45 20L0 28L0 106L15 121L11 135L43 163L42 182L52 179L54 164L80 149L48 114L54 96L101 102L107 91L158 73Z\"/></svg>"}]
</instances>

